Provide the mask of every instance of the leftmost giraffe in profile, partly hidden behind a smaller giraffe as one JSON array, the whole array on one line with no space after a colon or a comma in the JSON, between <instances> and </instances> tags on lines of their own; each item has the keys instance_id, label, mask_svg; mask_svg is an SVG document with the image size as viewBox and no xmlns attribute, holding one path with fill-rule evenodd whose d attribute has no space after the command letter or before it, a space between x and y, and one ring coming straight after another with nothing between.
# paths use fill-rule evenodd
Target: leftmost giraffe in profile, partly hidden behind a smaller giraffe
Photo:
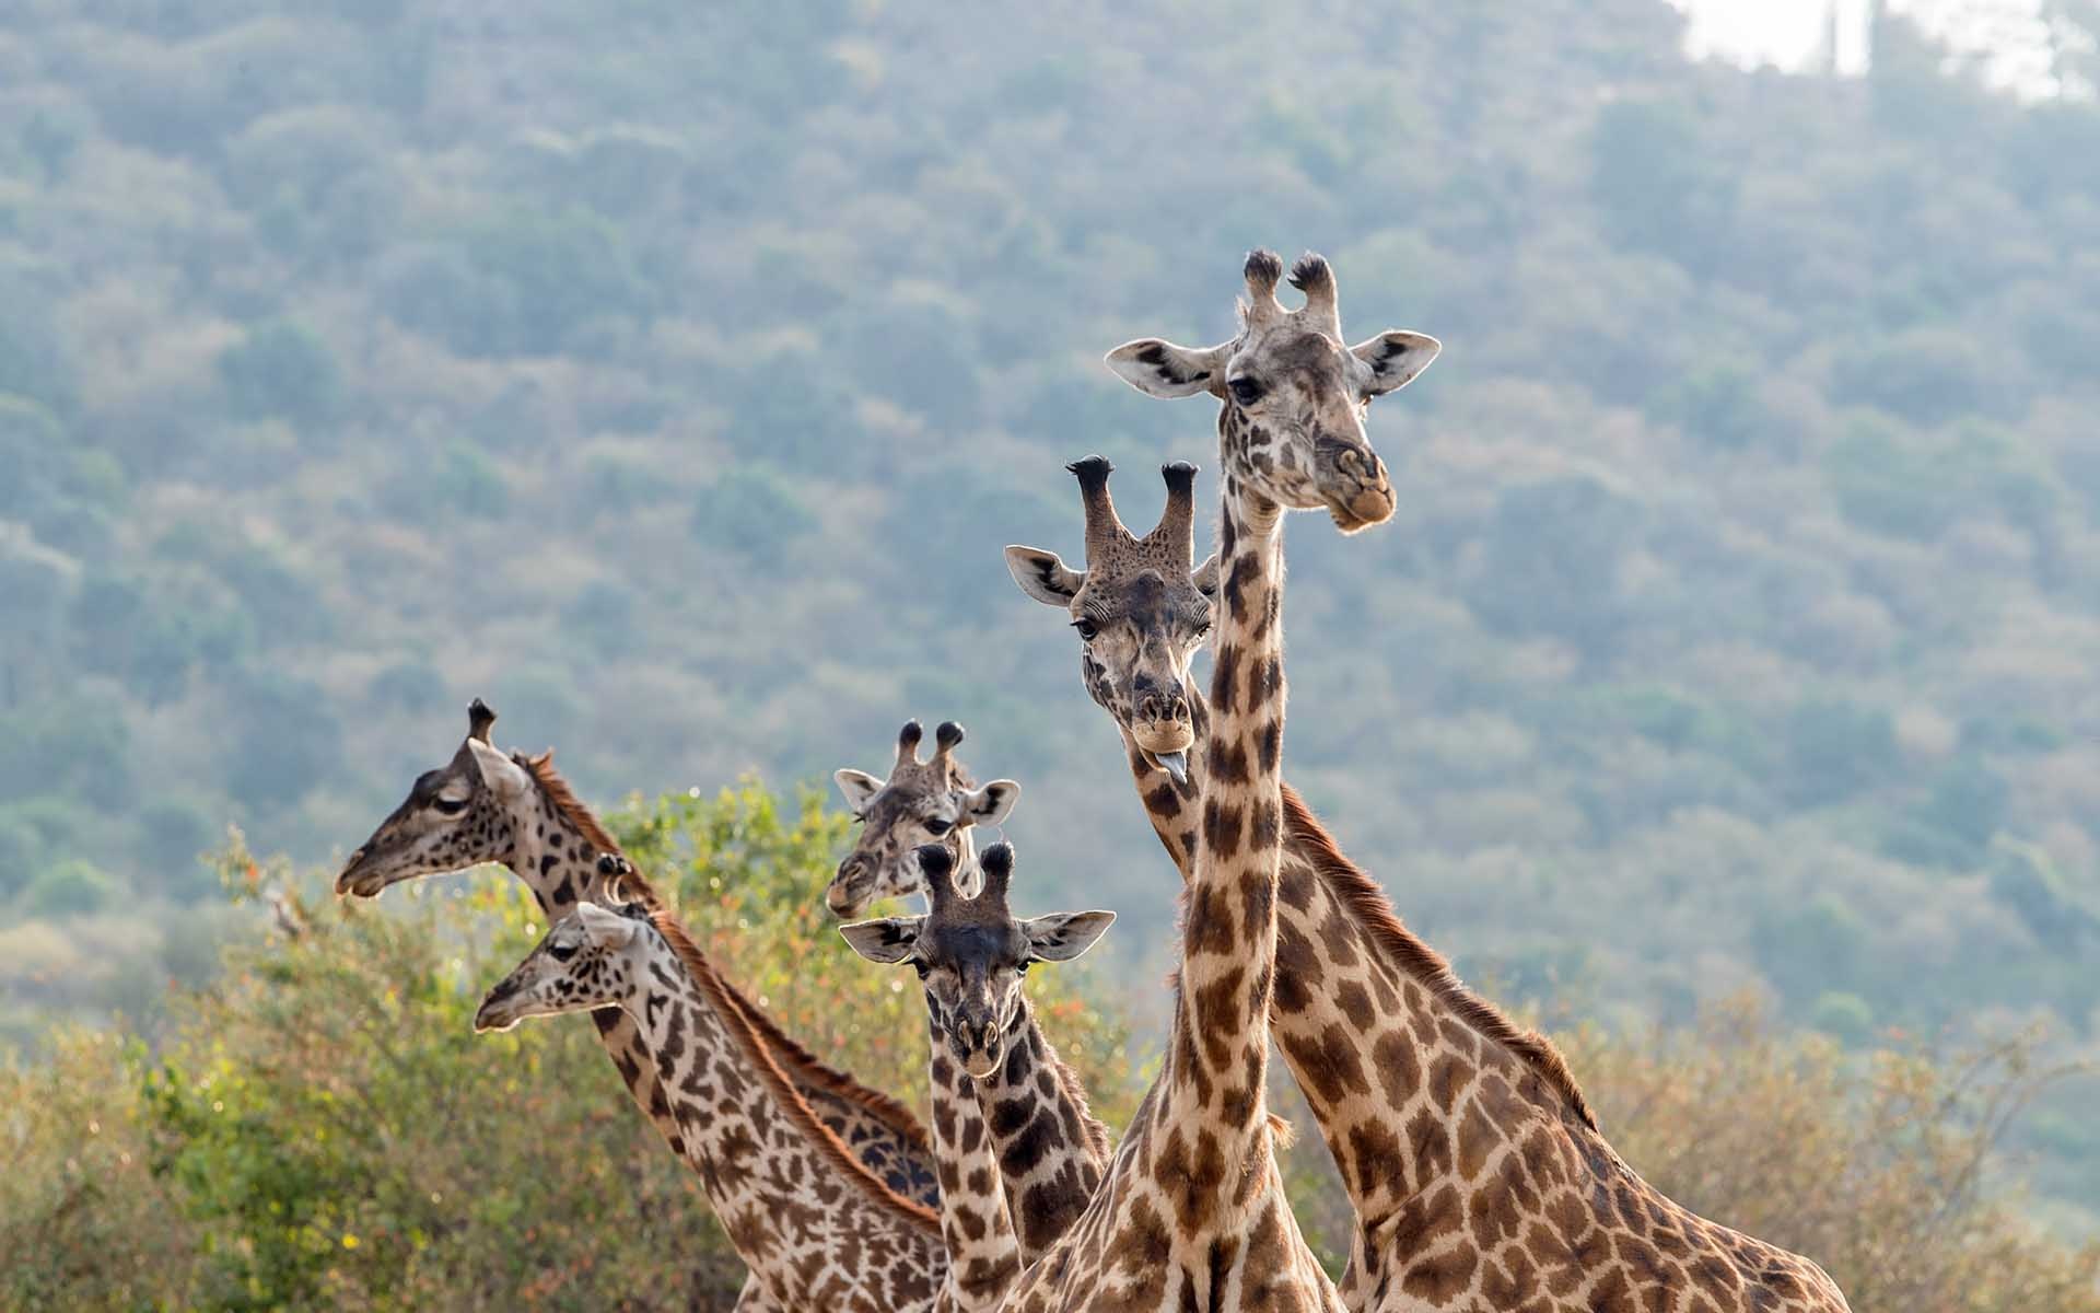
<instances>
[{"instance_id":1,"label":"leftmost giraffe in profile, partly hidden behind a smaller giraffe","mask_svg":"<svg viewBox=\"0 0 2100 1313\"><path fill-rule=\"evenodd\" d=\"M336 878L336 893L378 897L401 880L496 861L531 889L546 924L561 920L580 901L603 901L594 857L617 853L620 845L554 771L552 752L506 754L489 742L494 725L496 712L477 697L458 752L447 765L424 771L393 815L351 853ZM773 1050L777 1065L823 1124L869 1170L920 1204L932 1206L939 1200L932 1145L901 1103L817 1061L727 983L724 996ZM685 1153L634 1023L620 1008L601 1008L590 1019L643 1116L674 1153Z\"/></svg>"}]
</instances>

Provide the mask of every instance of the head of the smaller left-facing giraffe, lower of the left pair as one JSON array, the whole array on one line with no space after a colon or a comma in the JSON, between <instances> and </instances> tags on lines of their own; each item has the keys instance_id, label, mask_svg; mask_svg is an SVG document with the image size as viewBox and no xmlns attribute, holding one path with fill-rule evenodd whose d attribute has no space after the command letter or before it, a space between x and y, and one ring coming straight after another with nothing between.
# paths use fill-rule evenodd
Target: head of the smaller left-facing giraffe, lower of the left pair
<instances>
[{"instance_id":1,"label":"head of the smaller left-facing giraffe, lower of the left pair","mask_svg":"<svg viewBox=\"0 0 2100 1313\"><path fill-rule=\"evenodd\" d=\"M598 857L598 872L609 880L617 880L624 866L622 857ZM607 887L607 897L615 893L617 887ZM475 1031L510 1029L527 1017L628 1002L647 971L640 956L647 922L649 914L640 903L617 910L578 903L489 989L475 1013Z\"/></svg>"}]
</instances>

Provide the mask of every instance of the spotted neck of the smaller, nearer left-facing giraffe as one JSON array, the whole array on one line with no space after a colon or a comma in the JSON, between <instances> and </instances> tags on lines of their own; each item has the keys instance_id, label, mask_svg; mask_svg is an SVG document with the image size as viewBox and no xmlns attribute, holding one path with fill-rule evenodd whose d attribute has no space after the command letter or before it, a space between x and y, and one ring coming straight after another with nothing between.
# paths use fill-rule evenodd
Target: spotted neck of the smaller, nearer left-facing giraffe
<instances>
[{"instance_id":1,"label":"spotted neck of the smaller, nearer left-facing giraffe","mask_svg":"<svg viewBox=\"0 0 2100 1313\"><path fill-rule=\"evenodd\" d=\"M687 1164L756 1281L783 1307L932 1307L947 1260L928 1221L842 1168L815 1116L662 933L640 935L634 1019ZM872 1179L869 1179L872 1183Z\"/></svg>"}]
</instances>

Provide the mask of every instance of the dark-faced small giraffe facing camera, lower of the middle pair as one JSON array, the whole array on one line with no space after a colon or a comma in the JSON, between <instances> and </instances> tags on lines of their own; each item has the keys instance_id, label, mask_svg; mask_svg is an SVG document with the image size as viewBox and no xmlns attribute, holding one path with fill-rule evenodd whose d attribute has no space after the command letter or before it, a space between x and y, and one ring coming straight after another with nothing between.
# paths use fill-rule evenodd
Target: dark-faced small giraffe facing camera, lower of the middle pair
<instances>
[{"instance_id":1,"label":"dark-faced small giraffe facing camera, lower of the middle pair","mask_svg":"<svg viewBox=\"0 0 2100 1313\"><path fill-rule=\"evenodd\" d=\"M1014 920L1006 895L1014 849L985 849L981 891L960 893L953 855L918 849L926 916L840 926L869 962L909 962L926 992L934 1057L945 1044L970 1078L991 1126L1000 1191L1021 1233L1021 1263L1035 1263L1086 1210L1109 1164L1109 1130L1086 1107L1086 1090L1044 1038L1021 989L1031 962L1067 962L1107 933L1113 912L1063 912ZM939 1109L934 1130L939 1132ZM943 1181L943 1200L947 1181ZM953 1254L953 1250L949 1250Z\"/></svg>"}]
</instances>

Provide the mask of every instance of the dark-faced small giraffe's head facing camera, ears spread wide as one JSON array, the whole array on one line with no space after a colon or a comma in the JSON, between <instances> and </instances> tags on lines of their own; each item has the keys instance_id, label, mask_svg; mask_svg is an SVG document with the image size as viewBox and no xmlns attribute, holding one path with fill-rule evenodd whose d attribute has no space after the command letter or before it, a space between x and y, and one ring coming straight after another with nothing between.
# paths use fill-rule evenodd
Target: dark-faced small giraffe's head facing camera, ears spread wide
<instances>
[{"instance_id":1,"label":"dark-faced small giraffe's head facing camera, ears spread wide","mask_svg":"<svg viewBox=\"0 0 2100 1313\"><path fill-rule=\"evenodd\" d=\"M918 851L926 866L926 914L861 920L840 926L853 952L869 962L909 962L926 987L926 1013L949 1053L974 1078L991 1076L1006 1057L1006 1036L1021 1013L1021 977L1033 962L1067 962L1115 920L1115 912L1052 912L1014 920L1006 891L1014 878L1014 847L985 849L985 887L976 897L956 889L953 859L941 845Z\"/></svg>"}]
</instances>

